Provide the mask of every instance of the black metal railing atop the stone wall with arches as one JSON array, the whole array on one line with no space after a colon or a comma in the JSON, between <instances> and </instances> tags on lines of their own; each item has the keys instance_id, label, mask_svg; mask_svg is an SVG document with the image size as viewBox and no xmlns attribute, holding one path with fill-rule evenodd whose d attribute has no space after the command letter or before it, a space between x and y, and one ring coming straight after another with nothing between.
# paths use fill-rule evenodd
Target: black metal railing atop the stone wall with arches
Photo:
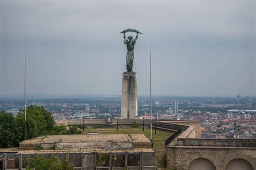
<instances>
[{"instance_id":1,"label":"black metal railing atop the stone wall with arches","mask_svg":"<svg viewBox=\"0 0 256 170\"><path fill-rule=\"evenodd\" d=\"M256 147L256 139L178 139L165 146Z\"/></svg>"}]
</instances>

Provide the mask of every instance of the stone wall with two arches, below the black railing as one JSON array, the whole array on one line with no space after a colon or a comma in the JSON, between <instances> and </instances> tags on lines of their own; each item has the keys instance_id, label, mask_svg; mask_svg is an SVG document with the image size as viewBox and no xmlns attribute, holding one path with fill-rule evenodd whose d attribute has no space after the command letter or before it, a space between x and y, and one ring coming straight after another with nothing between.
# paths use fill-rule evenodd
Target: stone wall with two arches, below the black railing
<instances>
[{"instance_id":1,"label":"stone wall with two arches, below the black railing","mask_svg":"<svg viewBox=\"0 0 256 170\"><path fill-rule=\"evenodd\" d=\"M244 159L256 169L256 148L234 147L167 147L167 168L188 169L198 158L210 160L217 170L225 169L233 159Z\"/></svg>"}]
</instances>

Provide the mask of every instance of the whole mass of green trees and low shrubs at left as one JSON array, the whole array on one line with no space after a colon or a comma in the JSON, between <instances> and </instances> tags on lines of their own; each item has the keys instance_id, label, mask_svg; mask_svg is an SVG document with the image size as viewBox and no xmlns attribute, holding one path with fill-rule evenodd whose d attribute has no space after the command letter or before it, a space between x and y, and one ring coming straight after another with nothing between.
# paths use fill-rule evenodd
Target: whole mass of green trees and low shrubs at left
<instances>
[{"instance_id":1,"label":"whole mass of green trees and low shrubs at left","mask_svg":"<svg viewBox=\"0 0 256 170\"><path fill-rule=\"evenodd\" d=\"M82 126L82 125L80 125ZM30 105L26 111L20 110L14 118L11 113L0 112L0 148L17 147L25 139L47 134L82 134L78 125L55 126L50 112L43 106Z\"/></svg>"}]
</instances>

